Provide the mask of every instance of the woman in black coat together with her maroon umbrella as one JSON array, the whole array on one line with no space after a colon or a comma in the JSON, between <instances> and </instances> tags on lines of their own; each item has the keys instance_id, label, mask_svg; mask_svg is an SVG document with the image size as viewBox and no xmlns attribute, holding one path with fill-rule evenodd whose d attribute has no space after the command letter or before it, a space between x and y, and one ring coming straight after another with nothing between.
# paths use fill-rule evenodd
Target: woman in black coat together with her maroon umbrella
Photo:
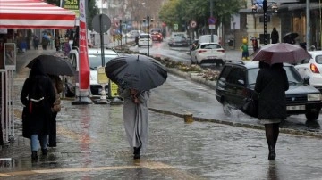
<instances>
[{"instance_id":1,"label":"woman in black coat together with her maroon umbrella","mask_svg":"<svg viewBox=\"0 0 322 180\"><path fill-rule=\"evenodd\" d=\"M311 58L298 45L277 43L266 45L255 52L253 61L266 62L269 67L260 69L255 91L258 95L258 119L265 125L268 144L268 160L275 160L275 145L279 135L279 124L286 119L286 95L289 82L283 63L296 64Z\"/></svg>"}]
</instances>

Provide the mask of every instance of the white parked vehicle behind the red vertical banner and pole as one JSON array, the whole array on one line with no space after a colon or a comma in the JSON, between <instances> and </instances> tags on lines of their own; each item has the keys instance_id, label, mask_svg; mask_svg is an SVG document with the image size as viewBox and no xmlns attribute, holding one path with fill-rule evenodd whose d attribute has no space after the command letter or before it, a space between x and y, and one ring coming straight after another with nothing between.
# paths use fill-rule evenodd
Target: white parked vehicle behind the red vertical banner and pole
<instances>
[{"instance_id":1,"label":"white parked vehicle behind the red vertical banner and pole","mask_svg":"<svg viewBox=\"0 0 322 180\"><path fill-rule=\"evenodd\" d=\"M96 98L100 97L102 86L97 83L97 67L102 66L101 50L97 48L89 49L89 96ZM105 49L104 57L105 64L111 59L118 57L113 49ZM77 95L76 87L79 86L79 69L80 60L78 49L72 49L68 54L69 61L72 63L72 67L76 70L76 75L73 77L64 77L65 81L65 96L73 97ZM108 84L105 86L106 95L108 94Z\"/></svg>"}]
</instances>

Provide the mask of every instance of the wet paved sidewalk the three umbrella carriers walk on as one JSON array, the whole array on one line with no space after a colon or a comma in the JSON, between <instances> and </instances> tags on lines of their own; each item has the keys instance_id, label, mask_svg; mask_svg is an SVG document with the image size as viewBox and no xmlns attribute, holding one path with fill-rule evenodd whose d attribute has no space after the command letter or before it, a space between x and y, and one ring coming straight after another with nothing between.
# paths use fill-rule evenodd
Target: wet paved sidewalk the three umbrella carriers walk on
<instances>
[{"instance_id":1,"label":"wet paved sidewalk the three umbrella carriers walk on","mask_svg":"<svg viewBox=\"0 0 322 180\"><path fill-rule=\"evenodd\" d=\"M18 66L40 53L19 55ZM38 161L32 162L30 140L21 136L19 100L28 74L22 68L14 79L16 136L0 149L1 179L322 179L320 138L281 134L276 159L269 161L262 130L185 123L152 110L148 150L140 160L132 160L123 105L72 105L73 100L62 101L57 147L50 148L46 157L38 151ZM164 104L152 105L166 109Z\"/></svg>"}]
</instances>

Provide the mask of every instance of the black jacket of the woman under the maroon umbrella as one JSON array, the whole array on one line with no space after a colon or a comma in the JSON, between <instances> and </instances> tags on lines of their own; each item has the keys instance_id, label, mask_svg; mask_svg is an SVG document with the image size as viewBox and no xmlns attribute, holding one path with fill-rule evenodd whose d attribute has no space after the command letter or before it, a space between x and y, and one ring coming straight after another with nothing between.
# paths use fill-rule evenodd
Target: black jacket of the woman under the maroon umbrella
<instances>
[{"instance_id":1,"label":"black jacket of the woman under the maroon umbrella","mask_svg":"<svg viewBox=\"0 0 322 180\"><path fill-rule=\"evenodd\" d=\"M255 91L258 93L258 119L286 119L286 95L289 88L283 64L259 70Z\"/></svg>"}]
</instances>

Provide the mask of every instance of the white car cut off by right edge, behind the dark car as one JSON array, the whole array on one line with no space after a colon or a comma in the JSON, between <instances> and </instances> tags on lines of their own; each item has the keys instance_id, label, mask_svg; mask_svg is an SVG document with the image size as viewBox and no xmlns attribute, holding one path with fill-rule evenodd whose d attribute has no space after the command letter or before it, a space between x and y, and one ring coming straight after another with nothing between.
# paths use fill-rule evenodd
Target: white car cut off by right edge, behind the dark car
<instances>
[{"instance_id":1,"label":"white car cut off by right edge, behind the dark car","mask_svg":"<svg viewBox=\"0 0 322 180\"><path fill-rule=\"evenodd\" d=\"M322 51L309 51L310 59L302 60L295 65L302 78L309 77L309 85L322 92Z\"/></svg>"}]
</instances>

